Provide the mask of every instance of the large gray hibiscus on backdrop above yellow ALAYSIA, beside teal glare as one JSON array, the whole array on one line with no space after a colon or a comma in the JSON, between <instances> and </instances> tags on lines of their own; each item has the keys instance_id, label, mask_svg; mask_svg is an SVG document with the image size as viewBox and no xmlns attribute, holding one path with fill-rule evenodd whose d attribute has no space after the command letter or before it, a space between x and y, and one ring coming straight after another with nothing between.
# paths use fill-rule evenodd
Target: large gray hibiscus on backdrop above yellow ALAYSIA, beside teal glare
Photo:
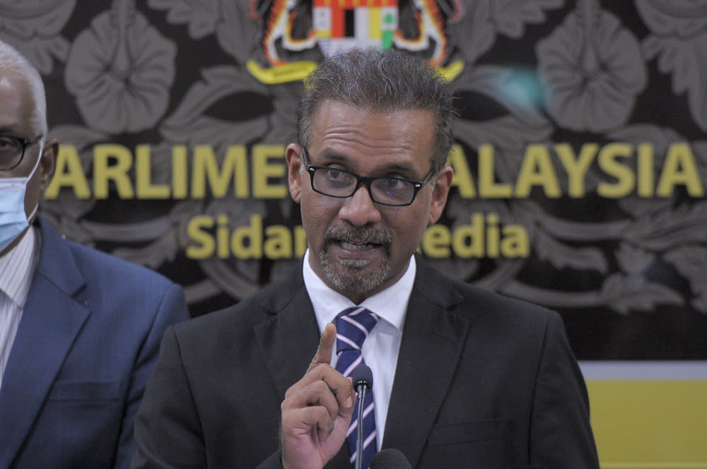
<instances>
[{"instance_id":1,"label":"large gray hibiscus on backdrop above yellow ALAYSIA, beside teal glare","mask_svg":"<svg viewBox=\"0 0 707 469\"><path fill-rule=\"evenodd\" d=\"M537 44L547 109L559 126L600 133L625 124L645 88L638 40L596 0L582 0Z\"/></svg>"}]
</instances>

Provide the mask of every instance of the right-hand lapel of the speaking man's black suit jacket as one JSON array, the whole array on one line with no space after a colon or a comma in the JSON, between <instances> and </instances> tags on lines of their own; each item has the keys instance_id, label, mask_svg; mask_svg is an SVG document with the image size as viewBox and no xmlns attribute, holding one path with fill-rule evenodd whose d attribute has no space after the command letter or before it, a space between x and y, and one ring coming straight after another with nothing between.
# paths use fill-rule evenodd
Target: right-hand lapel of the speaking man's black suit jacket
<instances>
[{"instance_id":1,"label":"right-hand lapel of the speaking man's black suit jacket","mask_svg":"<svg viewBox=\"0 0 707 469\"><path fill-rule=\"evenodd\" d=\"M425 263L417 265L382 444L401 450L412 467L426 446L469 329L467 319L448 312L461 296Z\"/></svg>"}]
</instances>

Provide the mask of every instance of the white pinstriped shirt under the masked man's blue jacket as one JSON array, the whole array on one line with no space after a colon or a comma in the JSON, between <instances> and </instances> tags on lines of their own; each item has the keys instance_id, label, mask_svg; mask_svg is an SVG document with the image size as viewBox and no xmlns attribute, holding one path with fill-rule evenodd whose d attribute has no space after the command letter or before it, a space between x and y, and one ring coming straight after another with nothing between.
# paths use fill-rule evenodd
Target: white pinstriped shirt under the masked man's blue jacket
<instances>
[{"instance_id":1,"label":"white pinstriped shirt under the masked man's blue jacket","mask_svg":"<svg viewBox=\"0 0 707 469\"><path fill-rule=\"evenodd\" d=\"M0 387L30 292L39 242L37 229L30 227L11 251L0 256Z\"/></svg>"}]
</instances>

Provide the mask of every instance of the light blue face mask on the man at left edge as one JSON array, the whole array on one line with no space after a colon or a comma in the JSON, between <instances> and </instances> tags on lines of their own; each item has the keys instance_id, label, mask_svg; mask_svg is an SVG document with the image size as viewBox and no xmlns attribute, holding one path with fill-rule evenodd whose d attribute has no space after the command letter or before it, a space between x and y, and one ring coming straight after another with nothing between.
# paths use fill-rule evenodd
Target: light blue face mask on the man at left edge
<instances>
[{"instance_id":1,"label":"light blue face mask on the man at left edge","mask_svg":"<svg viewBox=\"0 0 707 469\"><path fill-rule=\"evenodd\" d=\"M29 220L37 213L38 203L30 216L25 213L25 192L28 181L40 165L43 150L44 141L40 143L40 157L29 176L0 177L0 252L27 229Z\"/></svg>"}]
</instances>

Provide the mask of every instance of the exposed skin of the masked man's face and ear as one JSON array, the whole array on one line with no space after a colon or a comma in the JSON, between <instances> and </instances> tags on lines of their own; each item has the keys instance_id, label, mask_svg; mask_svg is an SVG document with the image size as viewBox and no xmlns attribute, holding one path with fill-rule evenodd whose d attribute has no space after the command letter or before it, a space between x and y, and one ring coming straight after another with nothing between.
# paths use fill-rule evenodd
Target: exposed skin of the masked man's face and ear
<instances>
[{"instance_id":1,"label":"exposed skin of the masked man's face and ear","mask_svg":"<svg viewBox=\"0 0 707 469\"><path fill-rule=\"evenodd\" d=\"M0 73L0 103L0 135L33 142L37 140L37 137L42 136L42 124L36 115L35 95L27 81L20 78L18 74ZM12 170L0 171L0 177L27 177L41 156L40 146L40 141L30 143L25 148L25 155L20 164ZM42 152L44 158L27 184L25 191L25 213L27 215L30 215L37 206L42 191L49 182L54 170L54 155L57 148L58 144L55 142L45 145L45 150ZM16 242L0 255L11 249L14 244Z\"/></svg>"}]
</instances>

